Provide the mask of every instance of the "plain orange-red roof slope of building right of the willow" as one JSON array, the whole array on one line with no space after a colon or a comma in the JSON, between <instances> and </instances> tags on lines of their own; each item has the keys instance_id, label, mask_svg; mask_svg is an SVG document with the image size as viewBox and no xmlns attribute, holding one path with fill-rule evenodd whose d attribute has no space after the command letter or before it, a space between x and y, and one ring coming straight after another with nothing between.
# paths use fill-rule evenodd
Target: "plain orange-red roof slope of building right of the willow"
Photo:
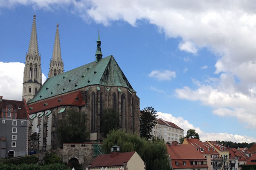
<instances>
[{"instance_id":1,"label":"plain orange-red roof slope of building right of the willow","mask_svg":"<svg viewBox=\"0 0 256 170\"><path fill-rule=\"evenodd\" d=\"M185 160L185 159L193 159L193 160L206 160L206 158L198 152L195 147L191 144L166 144L168 154L172 160Z\"/></svg>"}]
</instances>

